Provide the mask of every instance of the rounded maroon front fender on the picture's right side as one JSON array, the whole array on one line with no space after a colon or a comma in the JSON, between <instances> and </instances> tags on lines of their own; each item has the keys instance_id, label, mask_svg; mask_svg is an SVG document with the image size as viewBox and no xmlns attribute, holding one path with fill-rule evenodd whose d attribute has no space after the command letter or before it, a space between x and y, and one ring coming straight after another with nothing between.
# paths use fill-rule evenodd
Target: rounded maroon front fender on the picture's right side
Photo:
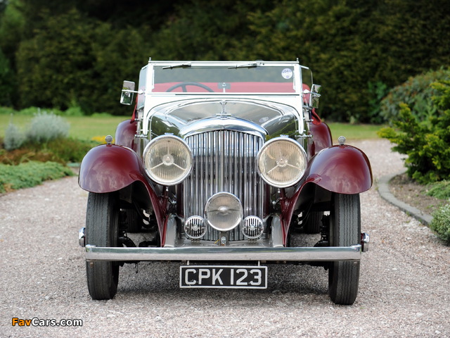
<instances>
[{"instance_id":1,"label":"rounded maroon front fender on the picture's right side","mask_svg":"<svg viewBox=\"0 0 450 338\"><path fill-rule=\"evenodd\" d=\"M305 183L314 182L323 189L340 194L359 194L372 186L371 163L354 146L331 146L314 158Z\"/></svg>"}]
</instances>

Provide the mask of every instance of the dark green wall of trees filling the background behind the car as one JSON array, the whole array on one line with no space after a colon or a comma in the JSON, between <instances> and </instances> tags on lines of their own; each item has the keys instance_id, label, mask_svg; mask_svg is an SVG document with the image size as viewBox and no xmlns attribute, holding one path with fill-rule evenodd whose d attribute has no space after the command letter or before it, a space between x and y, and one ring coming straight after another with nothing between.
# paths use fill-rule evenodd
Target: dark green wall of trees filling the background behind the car
<instances>
[{"instance_id":1,"label":"dark green wall of trees filling the background behind the car","mask_svg":"<svg viewBox=\"0 0 450 338\"><path fill-rule=\"evenodd\" d=\"M323 85L322 116L380 122L387 89L449 65L446 2L9 0L0 49L22 108L128 113L117 104L120 84L137 80L148 57L298 57Z\"/></svg>"}]
</instances>

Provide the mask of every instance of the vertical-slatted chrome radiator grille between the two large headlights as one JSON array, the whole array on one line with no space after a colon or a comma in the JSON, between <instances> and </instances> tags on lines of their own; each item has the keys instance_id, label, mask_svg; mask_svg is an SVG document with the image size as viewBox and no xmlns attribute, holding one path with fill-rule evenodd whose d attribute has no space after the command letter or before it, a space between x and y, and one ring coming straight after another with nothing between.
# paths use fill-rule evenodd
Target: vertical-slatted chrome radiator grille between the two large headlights
<instances>
[{"instance_id":1,"label":"vertical-slatted chrome radiator grille between the two large headlights","mask_svg":"<svg viewBox=\"0 0 450 338\"><path fill-rule=\"evenodd\" d=\"M243 204L244 218L263 217L264 183L256 168L261 137L230 130L203 132L186 137L193 152L193 170L184 183L184 218L203 216L207 199L217 192L230 192ZM207 240L219 239L208 227ZM244 239L240 227L229 232L229 240Z\"/></svg>"}]
</instances>

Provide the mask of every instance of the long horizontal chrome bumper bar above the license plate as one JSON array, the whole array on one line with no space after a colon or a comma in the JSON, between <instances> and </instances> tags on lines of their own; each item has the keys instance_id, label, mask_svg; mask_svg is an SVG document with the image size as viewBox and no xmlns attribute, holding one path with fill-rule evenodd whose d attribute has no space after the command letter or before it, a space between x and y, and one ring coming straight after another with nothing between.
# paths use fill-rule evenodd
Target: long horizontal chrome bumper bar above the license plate
<instances>
[{"instance_id":1,"label":"long horizontal chrome bumper bar above the license plate","mask_svg":"<svg viewBox=\"0 0 450 338\"><path fill-rule=\"evenodd\" d=\"M363 247L175 247L111 248L86 245L86 261L359 261Z\"/></svg>"}]
</instances>

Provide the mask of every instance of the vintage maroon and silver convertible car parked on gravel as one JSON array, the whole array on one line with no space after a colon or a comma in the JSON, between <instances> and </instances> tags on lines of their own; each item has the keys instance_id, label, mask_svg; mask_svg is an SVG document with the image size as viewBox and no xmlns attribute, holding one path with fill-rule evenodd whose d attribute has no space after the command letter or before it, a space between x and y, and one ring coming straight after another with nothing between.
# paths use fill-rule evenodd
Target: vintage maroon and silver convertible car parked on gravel
<instances>
[{"instance_id":1,"label":"vintage maroon and silver convertible car parked on gravel","mask_svg":"<svg viewBox=\"0 0 450 338\"><path fill-rule=\"evenodd\" d=\"M264 289L268 266L319 265L331 300L354 303L371 165L345 137L333 145L307 67L150 59L134 87L131 119L79 170L92 299L115 296L124 263L177 261L184 288Z\"/></svg>"}]
</instances>

